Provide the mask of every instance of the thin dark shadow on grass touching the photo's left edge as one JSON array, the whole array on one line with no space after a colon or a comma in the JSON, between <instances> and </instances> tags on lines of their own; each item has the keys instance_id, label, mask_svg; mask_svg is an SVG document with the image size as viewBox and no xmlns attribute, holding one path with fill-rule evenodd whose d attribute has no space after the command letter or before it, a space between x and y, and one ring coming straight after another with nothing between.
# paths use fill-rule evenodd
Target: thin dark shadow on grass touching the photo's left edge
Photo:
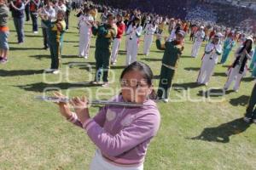
<instances>
[{"instance_id":1,"label":"thin dark shadow on grass touching the photo's left edge","mask_svg":"<svg viewBox=\"0 0 256 170\"><path fill-rule=\"evenodd\" d=\"M44 73L44 70L15 70L15 71L0 70L0 77L28 76L28 75L43 74L43 73Z\"/></svg>"}]
</instances>

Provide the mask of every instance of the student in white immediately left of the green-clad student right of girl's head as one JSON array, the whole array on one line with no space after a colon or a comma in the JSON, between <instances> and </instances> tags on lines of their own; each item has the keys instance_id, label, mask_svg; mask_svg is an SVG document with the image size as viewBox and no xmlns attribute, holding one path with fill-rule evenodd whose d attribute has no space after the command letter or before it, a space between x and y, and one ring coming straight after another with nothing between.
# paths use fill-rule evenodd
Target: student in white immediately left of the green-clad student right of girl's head
<instances>
[{"instance_id":1,"label":"student in white immediately left of the green-clad student right of girl's head","mask_svg":"<svg viewBox=\"0 0 256 170\"><path fill-rule=\"evenodd\" d=\"M145 54L146 56L148 56L150 52L150 47L153 42L154 32L156 31L156 28L157 26L154 21L150 24L147 24L145 28L143 54Z\"/></svg>"}]
</instances>

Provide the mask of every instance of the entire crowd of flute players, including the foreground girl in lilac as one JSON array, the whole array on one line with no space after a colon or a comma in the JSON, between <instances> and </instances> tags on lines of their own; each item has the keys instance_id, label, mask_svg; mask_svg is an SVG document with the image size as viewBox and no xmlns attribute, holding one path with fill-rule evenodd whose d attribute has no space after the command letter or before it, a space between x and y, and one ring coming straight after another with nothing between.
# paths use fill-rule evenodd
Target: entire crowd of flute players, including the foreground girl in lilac
<instances>
[{"instance_id":1,"label":"entire crowd of flute players, including the foreground girl in lilac","mask_svg":"<svg viewBox=\"0 0 256 170\"><path fill-rule=\"evenodd\" d=\"M77 4L79 3L79 4ZM65 31L69 28L69 14L76 9L78 17L79 48L78 57L89 59L91 37L96 37L96 75L91 82L102 87L109 86L108 74L111 65L118 61L119 45L125 41L125 70L120 76L121 94L113 98L115 102L135 102L145 104L142 108L112 108L105 106L93 119L90 118L88 101L83 98L71 100L74 112L67 103L59 102L61 115L67 121L84 128L90 139L96 144L96 156L90 169L132 169L143 170L143 161L148 144L160 127L160 113L154 100L169 101L173 78L177 72L179 59L184 50L184 37L189 35L193 42L191 59L197 58L201 45L207 42L201 59L201 69L196 82L206 85L210 81L218 58L219 64L225 64L231 50L239 43L234 61L226 71L228 78L224 90L235 82L234 90L238 91L241 78L247 70L252 70L256 78L256 53L253 50L255 35L247 32L208 25L204 22L193 22L161 16L160 14L143 13L138 9L122 10L99 6L91 2L71 2L68 0L0 0L0 61L8 61L9 52L9 10L14 19L17 42L25 42L24 22L32 20L32 32L38 34L38 17L43 32L43 48L49 49L50 68L46 71L58 74L61 65L61 48ZM96 20L100 15L100 21ZM168 36L165 36L165 34ZM125 38L123 38L125 35ZM137 61L139 44L143 39L143 54L149 57L150 48L156 36L155 45L164 52L161 60L159 89L154 95L153 72L148 65ZM142 38L143 37L143 38ZM250 65L247 65L251 60ZM102 79L102 81L101 81ZM134 83L133 81L137 82ZM131 98L131 92L139 89L140 94ZM137 91L136 91L137 93ZM62 94L55 94L65 98ZM148 96L153 97L148 99ZM256 123L256 84L244 117L246 122ZM128 117L128 118L127 118Z\"/></svg>"}]
</instances>

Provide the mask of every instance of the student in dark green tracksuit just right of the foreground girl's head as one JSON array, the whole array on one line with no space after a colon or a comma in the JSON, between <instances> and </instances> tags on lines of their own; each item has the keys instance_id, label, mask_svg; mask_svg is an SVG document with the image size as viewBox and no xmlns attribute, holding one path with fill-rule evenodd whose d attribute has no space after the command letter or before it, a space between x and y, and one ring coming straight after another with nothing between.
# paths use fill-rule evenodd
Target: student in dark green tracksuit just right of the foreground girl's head
<instances>
[{"instance_id":1,"label":"student in dark green tracksuit just right of the foreground girl's head","mask_svg":"<svg viewBox=\"0 0 256 170\"><path fill-rule=\"evenodd\" d=\"M169 91L172 88L172 79L177 70L178 60L183 52L183 39L185 32L178 30L174 41L167 41L161 44L160 36L156 40L156 47L165 50L160 71L160 83L157 91L157 99L168 102Z\"/></svg>"}]
</instances>

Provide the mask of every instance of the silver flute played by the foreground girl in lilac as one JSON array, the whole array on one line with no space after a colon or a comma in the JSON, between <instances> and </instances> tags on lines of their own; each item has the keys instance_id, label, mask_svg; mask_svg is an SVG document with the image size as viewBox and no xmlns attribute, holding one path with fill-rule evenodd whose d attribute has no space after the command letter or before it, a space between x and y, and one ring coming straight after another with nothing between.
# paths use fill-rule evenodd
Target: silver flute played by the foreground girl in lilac
<instances>
[{"instance_id":1,"label":"silver flute played by the foreground girl in lilac","mask_svg":"<svg viewBox=\"0 0 256 170\"><path fill-rule=\"evenodd\" d=\"M40 99L44 101L50 102L63 102L68 103L70 99L68 98L57 98L57 97L49 97L49 96L35 96L35 99ZM88 101L88 105L113 105L119 107L143 107L143 104L137 104L134 102L119 102L119 101L109 101L109 100L92 100Z\"/></svg>"}]
</instances>

